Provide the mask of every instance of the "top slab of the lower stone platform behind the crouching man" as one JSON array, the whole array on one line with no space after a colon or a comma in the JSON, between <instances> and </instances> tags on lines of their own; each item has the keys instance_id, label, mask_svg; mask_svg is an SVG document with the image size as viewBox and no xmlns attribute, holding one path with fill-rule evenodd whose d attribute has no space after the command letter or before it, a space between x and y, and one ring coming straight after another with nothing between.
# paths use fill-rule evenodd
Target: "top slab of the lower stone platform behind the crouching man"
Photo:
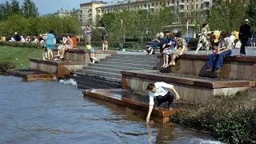
<instances>
[{"instance_id":1,"label":"top slab of the lower stone platform behind the crouching man","mask_svg":"<svg viewBox=\"0 0 256 144\"><path fill-rule=\"evenodd\" d=\"M255 81L247 81L247 80L226 80L226 81L218 81L218 80L205 80L199 78L185 78L181 76L166 76L163 74L151 74L150 71L122 71L122 75L134 76L138 78L149 78L153 80L157 80L159 82L174 82L179 84L185 84L190 86L200 86L207 88L230 88L230 87L253 87L255 86Z\"/></svg>"}]
</instances>

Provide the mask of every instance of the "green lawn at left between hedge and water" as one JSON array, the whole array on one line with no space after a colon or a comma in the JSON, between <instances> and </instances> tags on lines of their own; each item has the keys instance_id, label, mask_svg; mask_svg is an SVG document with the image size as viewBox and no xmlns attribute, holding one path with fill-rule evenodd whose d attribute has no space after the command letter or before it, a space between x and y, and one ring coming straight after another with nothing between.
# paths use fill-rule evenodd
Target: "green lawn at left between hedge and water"
<instances>
[{"instance_id":1,"label":"green lawn at left between hedge and water","mask_svg":"<svg viewBox=\"0 0 256 144\"><path fill-rule=\"evenodd\" d=\"M29 68L29 58L41 57L41 49L0 46L0 61L14 62L16 69Z\"/></svg>"}]
</instances>

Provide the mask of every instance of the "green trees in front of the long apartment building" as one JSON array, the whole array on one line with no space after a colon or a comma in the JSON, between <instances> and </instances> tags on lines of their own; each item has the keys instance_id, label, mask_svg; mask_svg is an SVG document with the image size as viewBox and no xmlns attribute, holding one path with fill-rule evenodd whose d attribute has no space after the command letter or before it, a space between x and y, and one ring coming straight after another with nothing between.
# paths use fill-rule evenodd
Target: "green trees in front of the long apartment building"
<instances>
[{"instance_id":1,"label":"green trees in front of the long apartment building","mask_svg":"<svg viewBox=\"0 0 256 144\"><path fill-rule=\"evenodd\" d=\"M174 22L175 15L170 7L156 10L123 10L103 14L97 25L104 24L108 37L112 41L121 41L126 37L140 37L145 34L156 34L163 26Z\"/></svg>"}]
</instances>

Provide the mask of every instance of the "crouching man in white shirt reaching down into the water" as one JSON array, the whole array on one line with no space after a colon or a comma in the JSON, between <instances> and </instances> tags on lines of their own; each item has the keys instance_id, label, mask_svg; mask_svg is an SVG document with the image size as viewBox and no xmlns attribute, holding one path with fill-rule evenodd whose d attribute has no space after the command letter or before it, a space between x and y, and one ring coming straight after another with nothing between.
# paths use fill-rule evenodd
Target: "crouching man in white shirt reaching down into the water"
<instances>
[{"instance_id":1,"label":"crouching man in white shirt reaching down into the water","mask_svg":"<svg viewBox=\"0 0 256 144\"><path fill-rule=\"evenodd\" d=\"M157 108L160 108L163 102L168 102L168 109L172 110L171 104L174 101L174 94L176 100L179 100L180 96L178 92L174 89L173 85L167 84L166 82L156 82L150 83L146 90L149 92L150 97L150 106L149 112L146 117L146 123L150 122L150 114L154 107L154 98L156 98L158 104ZM170 93L170 90L174 92L174 94Z\"/></svg>"}]
</instances>

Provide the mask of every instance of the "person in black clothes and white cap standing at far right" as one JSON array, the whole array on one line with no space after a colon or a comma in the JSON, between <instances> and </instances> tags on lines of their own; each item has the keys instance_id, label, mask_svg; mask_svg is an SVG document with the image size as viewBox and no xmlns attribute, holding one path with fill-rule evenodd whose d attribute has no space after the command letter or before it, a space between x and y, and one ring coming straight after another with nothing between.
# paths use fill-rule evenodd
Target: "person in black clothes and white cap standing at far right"
<instances>
[{"instance_id":1,"label":"person in black clothes and white cap standing at far right","mask_svg":"<svg viewBox=\"0 0 256 144\"><path fill-rule=\"evenodd\" d=\"M248 25L249 20L246 19L245 24L243 24L242 26L240 26L240 30L239 30L239 39L242 42L242 46L240 49L240 55L244 55L246 56L246 45L248 42L248 39L251 38L251 32L250 32L250 25Z\"/></svg>"}]
</instances>

